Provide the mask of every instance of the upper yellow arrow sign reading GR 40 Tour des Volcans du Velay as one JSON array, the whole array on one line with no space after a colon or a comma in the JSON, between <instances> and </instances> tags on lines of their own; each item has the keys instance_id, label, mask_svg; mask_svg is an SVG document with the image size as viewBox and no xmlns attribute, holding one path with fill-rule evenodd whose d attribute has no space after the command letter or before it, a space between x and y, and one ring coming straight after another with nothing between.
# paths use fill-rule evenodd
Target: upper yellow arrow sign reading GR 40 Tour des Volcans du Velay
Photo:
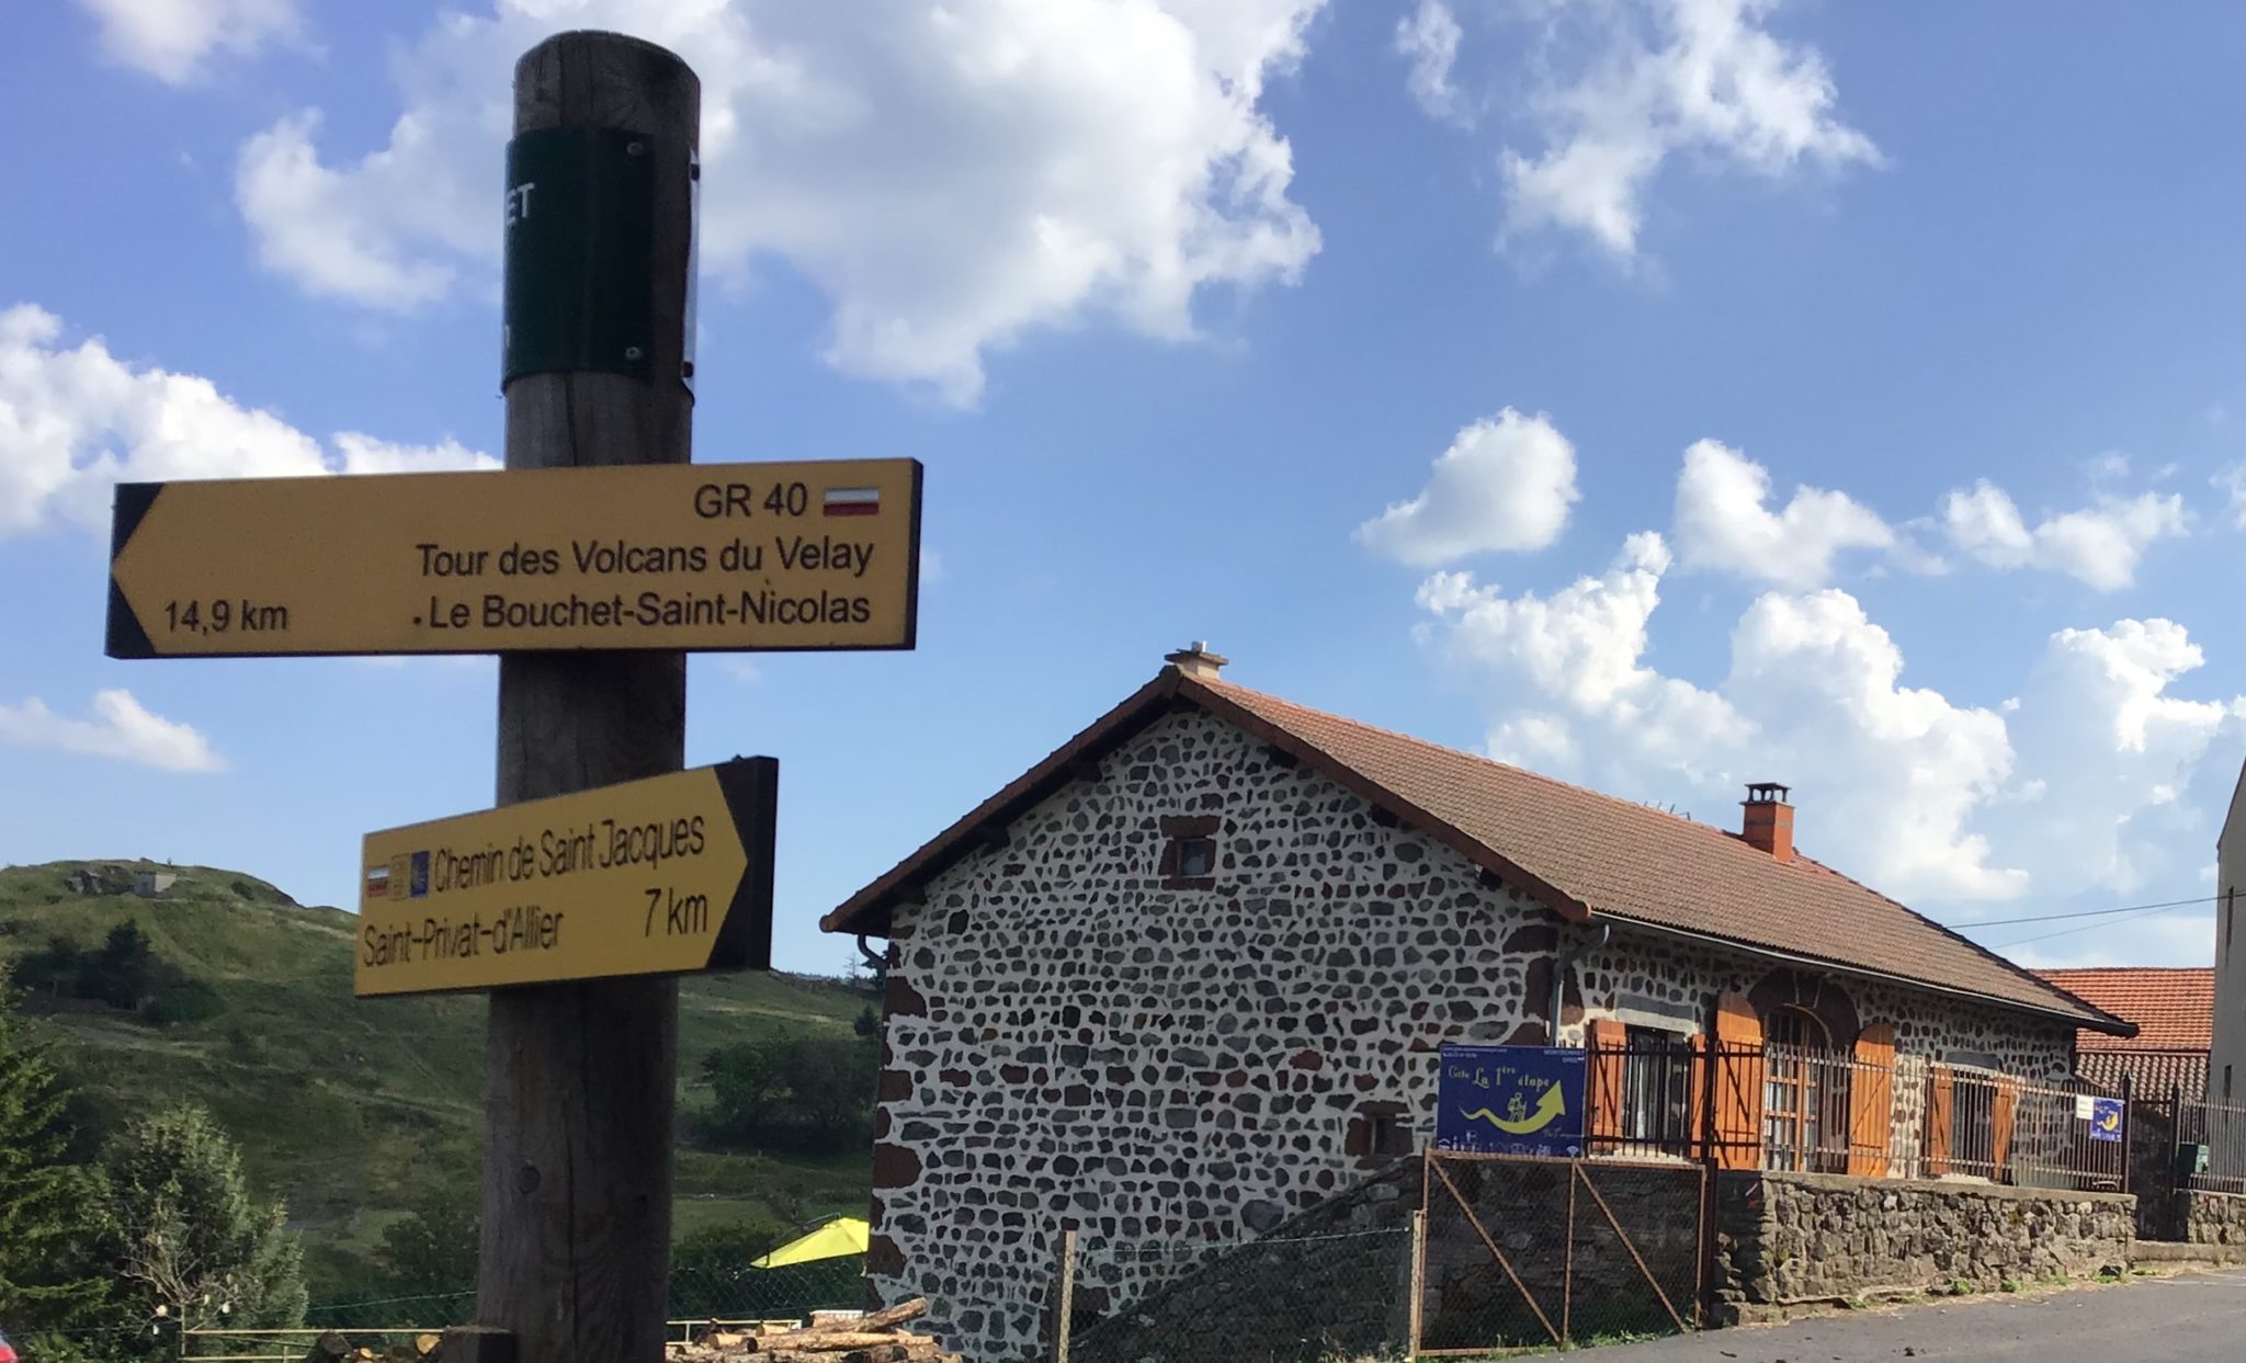
<instances>
[{"instance_id":1,"label":"upper yellow arrow sign reading GR 40 Tour des Volcans du Velay","mask_svg":"<svg viewBox=\"0 0 2246 1363\"><path fill-rule=\"evenodd\" d=\"M921 465L124 483L110 658L910 649Z\"/></svg>"}]
</instances>

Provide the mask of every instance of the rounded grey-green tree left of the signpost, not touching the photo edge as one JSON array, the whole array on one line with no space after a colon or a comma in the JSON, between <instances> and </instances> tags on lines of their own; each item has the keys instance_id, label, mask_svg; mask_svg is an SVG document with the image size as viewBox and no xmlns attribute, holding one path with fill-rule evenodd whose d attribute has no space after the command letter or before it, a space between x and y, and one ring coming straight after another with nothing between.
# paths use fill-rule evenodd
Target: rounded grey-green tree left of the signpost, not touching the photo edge
<instances>
[{"instance_id":1,"label":"rounded grey-green tree left of the signpost, not touching the photo edge","mask_svg":"<svg viewBox=\"0 0 2246 1363\"><path fill-rule=\"evenodd\" d=\"M103 1154L106 1248L146 1316L287 1329L303 1320L303 1246L258 1206L243 1156L193 1105L146 1116Z\"/></svg>"}]
</instances>

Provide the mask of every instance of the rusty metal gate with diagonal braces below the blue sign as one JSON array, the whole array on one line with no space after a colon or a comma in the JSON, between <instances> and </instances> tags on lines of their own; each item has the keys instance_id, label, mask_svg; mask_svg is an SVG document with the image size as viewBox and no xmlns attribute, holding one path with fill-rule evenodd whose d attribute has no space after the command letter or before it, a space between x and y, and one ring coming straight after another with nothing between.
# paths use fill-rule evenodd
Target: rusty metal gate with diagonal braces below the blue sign
<instances>
[{"instance_id":1,"label":"rusty metal gate with diagonal braces below the blue sign","mask_svg":"<svg viewBox=\"0 0 2246 1363\"><path fill-rule=\"evenodd\" d=\"M1426 1152L1413 1354L1590 1345L1700 1325L1705 1165Z\"/></svg>"}]
</instances>

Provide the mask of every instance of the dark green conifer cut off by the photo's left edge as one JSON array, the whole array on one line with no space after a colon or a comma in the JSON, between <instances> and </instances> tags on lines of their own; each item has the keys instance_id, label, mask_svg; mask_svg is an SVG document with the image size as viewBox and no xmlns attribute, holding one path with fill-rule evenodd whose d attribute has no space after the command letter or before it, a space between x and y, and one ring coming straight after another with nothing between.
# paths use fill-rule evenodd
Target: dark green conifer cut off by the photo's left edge
<instances>
[{"instance_id":1,"label":"dark green conifer cut off by the photo's left edge","mask_svg":"<svg viewBox=\"0 0 2246 1363\"><path fill-rule=\"evenodd\" d=\"M18 1004L0 970L0 1323L31 1338L88 1325L110 1287L92 1260L97 1181L70 1163L70 1087Z\"/></svg>"}]
</instances>

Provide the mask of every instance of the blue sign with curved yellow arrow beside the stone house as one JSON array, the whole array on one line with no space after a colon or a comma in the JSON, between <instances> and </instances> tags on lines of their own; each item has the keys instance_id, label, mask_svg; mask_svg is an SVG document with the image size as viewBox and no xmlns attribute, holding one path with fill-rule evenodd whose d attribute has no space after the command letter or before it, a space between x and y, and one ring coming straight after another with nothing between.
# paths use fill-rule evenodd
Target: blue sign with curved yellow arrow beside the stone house
<instances>
[{"instance_id":1,"label":"blue sign with curved yellow arrow beside the stone house","mask_svg":"<svg viewBox=\"0 0 2246 1363\"><path fill-rule=\"evenodd\" d=\"M1444 1046L1435 1150L1581 1156L1588 1060L1565 1046Z\"/></svg>"}]
</instances>

